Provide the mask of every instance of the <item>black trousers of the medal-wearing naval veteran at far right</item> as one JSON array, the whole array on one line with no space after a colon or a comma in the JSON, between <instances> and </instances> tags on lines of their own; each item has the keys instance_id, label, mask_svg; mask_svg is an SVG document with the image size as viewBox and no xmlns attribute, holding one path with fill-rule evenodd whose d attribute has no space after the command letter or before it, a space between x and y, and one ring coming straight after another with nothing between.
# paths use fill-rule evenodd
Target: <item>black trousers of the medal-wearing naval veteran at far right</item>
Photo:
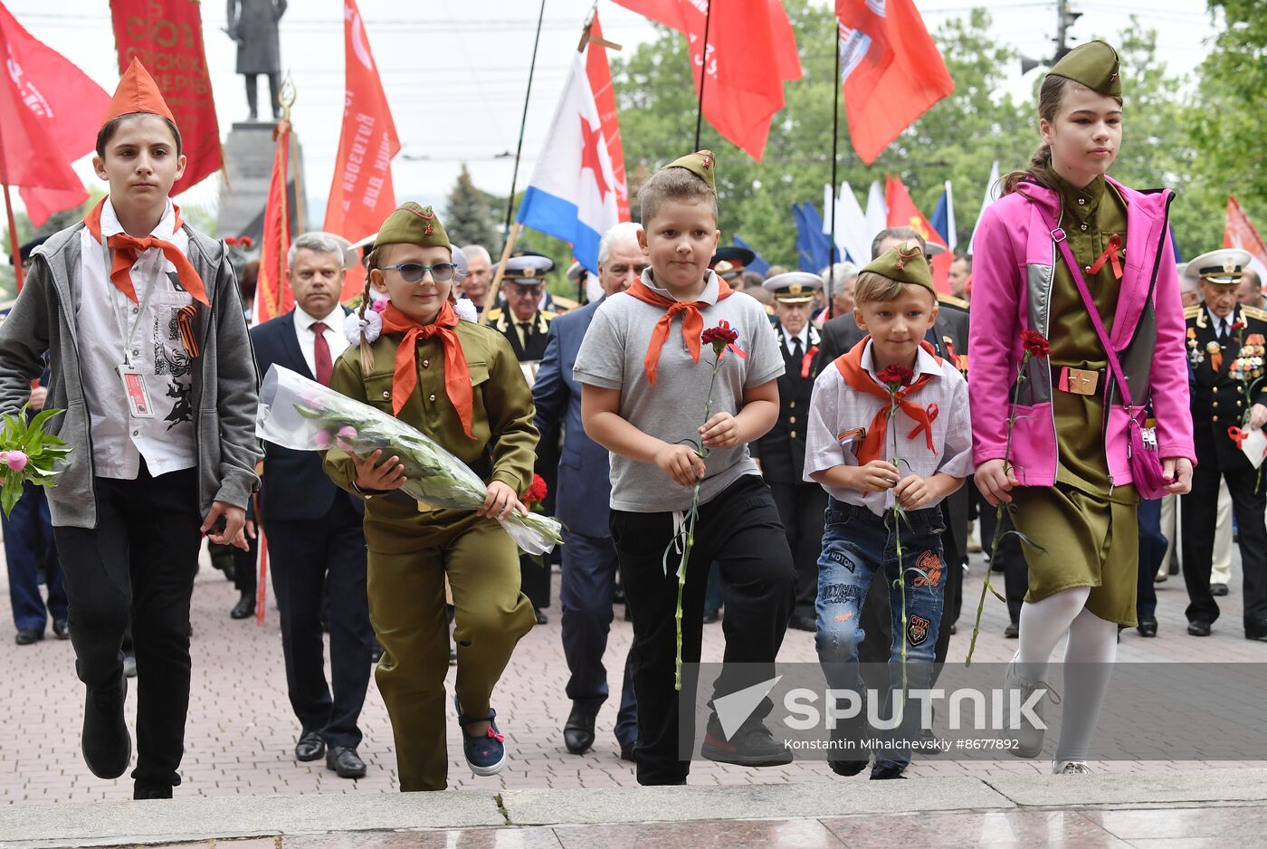
<instances>
[{"instance_id":1,"label":"black trousers of the medal-wearing naval veteran at far right","mask_svg":"<svg viewBox=\"0 0 1267 849\"><path fill-rule=\"evenodd\" d=\"M1258 471L1247 460L1240 468L1219 470L1214 457L1197 457L1192 490L1182 495L1183 583L1187 584L1188 622L1214 622L1219 603L1210 594L1214 560L1214 526L1219 511L1219 478L1228 482L1232 516L1237 522L1240 569L1244 575L1244 623L1256 631L1267 627L1267 492L1256 492Z\"/></svg>"}]
</instances>

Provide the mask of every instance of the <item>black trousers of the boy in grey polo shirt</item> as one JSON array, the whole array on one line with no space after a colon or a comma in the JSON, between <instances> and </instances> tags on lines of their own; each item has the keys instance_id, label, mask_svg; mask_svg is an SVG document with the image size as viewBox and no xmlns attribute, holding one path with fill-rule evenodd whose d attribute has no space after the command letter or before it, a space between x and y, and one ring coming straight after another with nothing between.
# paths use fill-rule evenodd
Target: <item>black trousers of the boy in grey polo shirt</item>
<instances>
[{"instance_id":1,"label":"black trousers of the boy in grey polo shirt","mask_svg":"<svg viewBox=\"0 0 1267 849\"><path fill-rule=\"evenodd\" d=\"M663 565L673 513L613 509L611 525L621 583L634 613L637 781L682 784L691 763L678 759L678 692L673 688L677 559L670 555L668 574ZM723 663L744 664L722 672L713 688L716 698L774 677L774 658L792 615L796 570L770 488L758 475L744 475L703 504L694 539L682 601L682 661L699 661L708 565L716 560L726 604ZM767 699L750 721L760 721L770 708Z\"/></svg>"}]
</instances>

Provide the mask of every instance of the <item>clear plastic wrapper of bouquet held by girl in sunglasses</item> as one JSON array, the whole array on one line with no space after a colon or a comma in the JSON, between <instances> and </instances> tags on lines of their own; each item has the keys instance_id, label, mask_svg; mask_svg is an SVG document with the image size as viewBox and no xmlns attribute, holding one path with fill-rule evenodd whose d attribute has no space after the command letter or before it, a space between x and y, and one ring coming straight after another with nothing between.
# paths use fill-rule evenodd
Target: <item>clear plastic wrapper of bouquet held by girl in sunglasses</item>
<instances>
[{"instance_id":1,"label":"clear plastic wrapper of bouquet held by girl in sunglasses","mask_svg":"<svg viewBox=\"0 0 1267 849\"><path fill-rule=\"evenodd\" d=\"M402 492L428 507L479 509L488 493L470 466L431 437L281 366L270 367L260 386L255 435L296 451L340 447L364 457L383 449L404 465ZM498 521L528 554L545 554L563 542L561 525L549 516L512 512Z\"/></svg>"}]
</instances>

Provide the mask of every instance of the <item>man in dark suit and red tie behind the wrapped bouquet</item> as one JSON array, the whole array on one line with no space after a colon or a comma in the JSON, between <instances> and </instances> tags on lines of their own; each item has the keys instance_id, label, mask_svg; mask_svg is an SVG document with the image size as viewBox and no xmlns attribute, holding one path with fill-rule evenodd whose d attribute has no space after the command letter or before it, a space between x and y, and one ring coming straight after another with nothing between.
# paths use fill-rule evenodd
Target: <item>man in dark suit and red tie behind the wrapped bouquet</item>
<instances>
[{"instance_id":1,"label":"man in dark suit and red tie behind the wrapped bouquet","mask_svg":"<svg viewBox=\"0 0 1267 849\"><path fill-rule=\"evenodd\" d=\"M260 374L274 364L328 384L347 347L338 297L345 247L327 233L304 233L289 256L295 308L251 328ZM269 541L272 588L281 610L281 648L290 706L303 727L295 756L317 760L340 778L361 778L357 718L370 684L374 631L365 594L364 507L338 489L314 451L265 442L260 512ZM322 596L329 597L326 682ZM332 693L333 691L333 693ZM328 746L328 750L327 750Z\"/></svg>"}]
</instances>

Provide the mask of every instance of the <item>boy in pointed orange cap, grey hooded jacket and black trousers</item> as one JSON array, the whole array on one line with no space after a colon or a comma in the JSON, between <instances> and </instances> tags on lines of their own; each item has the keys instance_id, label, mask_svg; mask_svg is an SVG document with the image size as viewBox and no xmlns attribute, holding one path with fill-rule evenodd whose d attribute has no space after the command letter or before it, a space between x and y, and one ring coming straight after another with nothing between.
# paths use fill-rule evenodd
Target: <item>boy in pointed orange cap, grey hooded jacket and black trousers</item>
<instances>
[{"instance_id":1,"label":"boy in pointed orange cap, grey hooded jacket and black trousers","mask_svg":"<svg viewBox=\"0 0 1267 849\"><path fill-rule=\"evenodd\" d=\"M132 758L120 644L136 642L136 798L180 783L189 710L189 603L203 536L246 547L258 488L255 359L224 245L167 194L180 131L133 60L103 119L96 174L110 194L33 255L0 324L0 412L15 413L51 357L48 430L73 451L48 489L87 687L82 753L99 778Z\"/></svg>"}]
</instances>

